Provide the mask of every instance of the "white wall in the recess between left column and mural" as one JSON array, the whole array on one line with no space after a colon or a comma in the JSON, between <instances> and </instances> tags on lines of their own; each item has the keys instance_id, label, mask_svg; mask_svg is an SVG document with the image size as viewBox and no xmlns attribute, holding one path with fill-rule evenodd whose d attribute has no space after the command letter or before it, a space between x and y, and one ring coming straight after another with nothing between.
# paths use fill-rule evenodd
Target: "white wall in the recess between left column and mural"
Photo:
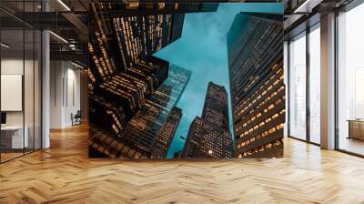
<instances>
[{"instance_id":1,"label":"white wall in the recess between left column and mural","mask_svg":"<svg viewBox=\"0 0 364 204\"><path fill-rule=\"evenodd\" d=\"M66 61L51 61L50 128L72 126L80 110L80 71Z\"/></svg>"}]
</instances>

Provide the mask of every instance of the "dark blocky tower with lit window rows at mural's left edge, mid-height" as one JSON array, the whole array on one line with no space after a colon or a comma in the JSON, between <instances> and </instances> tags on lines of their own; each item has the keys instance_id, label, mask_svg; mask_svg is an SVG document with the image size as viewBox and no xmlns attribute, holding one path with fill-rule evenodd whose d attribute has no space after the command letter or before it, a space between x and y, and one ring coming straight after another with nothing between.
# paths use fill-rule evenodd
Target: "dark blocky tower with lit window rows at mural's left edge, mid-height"
<instances>
[{"instance_id":1,"label":"dark blocky tower with lit window rows at mural's left edge, mid-height","mask_svg":"<svg viewBox=\"0 0 364 204\"><path fill-rule=\"evenodd\" d=\"M102 83L89 90L90 123L119 134L130 120L147 102L150 96L166 80L168 63L154 56L141 60L126 73L117 73L107 77ZM97 99L96 99L97 98ZM111 113L102 101L113 104L120 114L112 115L113 123L107 119ZM106 122L107 121L107 122Z\"/></svg>"}]
</instances>

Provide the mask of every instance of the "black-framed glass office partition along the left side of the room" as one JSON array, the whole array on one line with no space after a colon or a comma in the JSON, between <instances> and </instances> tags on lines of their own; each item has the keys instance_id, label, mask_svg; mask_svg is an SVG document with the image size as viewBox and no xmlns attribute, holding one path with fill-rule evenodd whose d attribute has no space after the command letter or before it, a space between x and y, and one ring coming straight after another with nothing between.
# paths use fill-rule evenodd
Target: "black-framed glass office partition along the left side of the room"
<instances>
[{"instance_id":1,"label":"black-framed glass office partition along the left side of the room","mask_svg":"<svg viewBox=\"0 0 364 204\"><path fill-rule=\"evenodd\" d=\"M15 15L40 1L5 1L0 11L0 162L41 148L41 32ZM15 14L15 15L12 15Z\"/></svg>"}]
</instances>

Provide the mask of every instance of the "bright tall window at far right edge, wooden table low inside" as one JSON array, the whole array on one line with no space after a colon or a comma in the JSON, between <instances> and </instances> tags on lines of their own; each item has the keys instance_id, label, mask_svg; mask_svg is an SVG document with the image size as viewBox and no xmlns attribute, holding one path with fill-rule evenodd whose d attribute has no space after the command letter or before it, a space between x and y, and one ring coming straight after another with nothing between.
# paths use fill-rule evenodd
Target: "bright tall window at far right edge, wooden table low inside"
<instances>
[{"instance_id":1,"label":"bright tall window at far right edge, wooden table low inside","mask_svg":"<svg viewBox=\"0 0 364 204\"><path fill-rule=\"evenodd\" d=\"M338 16L338 148L364 155L364 4Z\"/></svg>"}]
</instances>

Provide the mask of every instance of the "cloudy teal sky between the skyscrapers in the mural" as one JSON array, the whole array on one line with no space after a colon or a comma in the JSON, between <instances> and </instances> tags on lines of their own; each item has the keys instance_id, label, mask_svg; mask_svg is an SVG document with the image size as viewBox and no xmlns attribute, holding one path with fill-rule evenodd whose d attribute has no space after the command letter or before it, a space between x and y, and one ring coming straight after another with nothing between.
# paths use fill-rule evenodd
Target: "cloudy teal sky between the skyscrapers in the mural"
<instances>
[{"instance_id":1,"label":"cloudy teal sky between the skyscrapers in the mural","mask_svg":"<svg viewBox=\"0 0 364 204\"><path fill-rule=\"evenodd\" d=\"M173 158L182 150L192 120L201 116L206 97L207 84L212 81L227 89L230 94L227 68L227 31L239 12L260 12L283 14L282 4L271 3L224 3L217 12L187 14L182 37L163 48L155 56L169 63L192 71L187 87L177 107L182 108L183 117L167 158ZM229 98L229 97L228 97ZM231 106L229 107L230 131L232 132Z\"/></svg>"}]
</instances>

